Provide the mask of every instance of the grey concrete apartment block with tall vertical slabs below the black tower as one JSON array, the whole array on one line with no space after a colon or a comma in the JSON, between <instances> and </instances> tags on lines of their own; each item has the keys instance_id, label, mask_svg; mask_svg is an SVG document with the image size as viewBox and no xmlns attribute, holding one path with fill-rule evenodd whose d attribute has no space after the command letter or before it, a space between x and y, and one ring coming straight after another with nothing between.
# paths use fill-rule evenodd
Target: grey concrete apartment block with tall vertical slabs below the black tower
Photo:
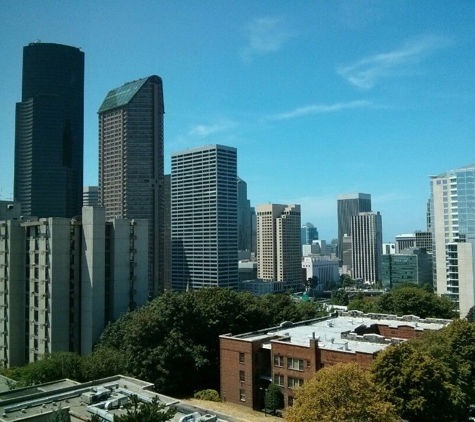
<instances>
[{"instance_id":1,"label":"grey concrete apartment block with tall vertical slabs below the black tower","mask_svg":"<svg viewBox=\"0 0 475 422\"><path fill-rule=\"evenodd\" d=\"M146 221L106 222L99 207L0 221L0 362L90 353L108 321L146 302L147 241Z\"/></svg>"}]
</instances>

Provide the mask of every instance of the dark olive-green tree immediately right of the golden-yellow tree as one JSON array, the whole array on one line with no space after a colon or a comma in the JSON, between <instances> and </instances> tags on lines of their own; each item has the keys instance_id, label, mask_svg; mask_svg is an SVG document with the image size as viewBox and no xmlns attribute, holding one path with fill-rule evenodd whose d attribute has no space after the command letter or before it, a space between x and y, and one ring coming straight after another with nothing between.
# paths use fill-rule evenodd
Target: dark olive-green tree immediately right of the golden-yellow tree
<instances>
[{"instance_id":1,"label":"dark olive-green tree immediately right of the golden-yellow tree","mask_svg":"<svg viewBox=\"0 0 475 422\"><path fill-rule=\"evenodd\" d=\"M411 342L388 347L374 361L375 382L387 392L403 419L458 420L460 391L452 384L450 368L413 347Z\"/></svg>"}]
</instances>

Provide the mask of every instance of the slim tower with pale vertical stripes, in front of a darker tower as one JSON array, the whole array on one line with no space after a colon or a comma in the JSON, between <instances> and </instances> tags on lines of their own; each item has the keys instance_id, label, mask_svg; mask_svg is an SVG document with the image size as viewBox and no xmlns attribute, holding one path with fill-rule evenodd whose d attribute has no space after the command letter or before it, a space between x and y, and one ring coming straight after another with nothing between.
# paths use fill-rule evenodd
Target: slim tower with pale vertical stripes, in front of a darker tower
<instances>
[{"instance_id":1,"label":"slim tower with pale vertical stripes, in front of a darker tower","mask_svg":"<svg viewBox=\"0 0 475 422\"><path fill-rule=\"evenodd\" d=\"M352 274L370 283L381 280L383 228L379 212L360 212L351 217Z\"/></svg>"}]
</instances>

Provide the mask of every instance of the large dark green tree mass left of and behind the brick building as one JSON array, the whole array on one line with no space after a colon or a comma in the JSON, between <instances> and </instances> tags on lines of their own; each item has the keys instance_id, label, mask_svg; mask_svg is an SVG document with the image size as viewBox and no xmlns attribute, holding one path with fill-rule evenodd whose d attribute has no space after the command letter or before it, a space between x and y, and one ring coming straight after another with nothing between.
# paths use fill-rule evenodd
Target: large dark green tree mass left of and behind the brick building
<instances>
[{"instance_id":1,"label":"large dark green tree mass left of and behind the brick building","mask_svg":"<svg viewBox=\"0 0 475 422\"><path fill-rule=\"evenodd\" d=\"M110 324L95 354L118 351L125 373L164 393L218 389L221 334L321 315L316 304L297 304L287 295L254 297L221 288L168 292Z\"/></svg>"}]
</instances>

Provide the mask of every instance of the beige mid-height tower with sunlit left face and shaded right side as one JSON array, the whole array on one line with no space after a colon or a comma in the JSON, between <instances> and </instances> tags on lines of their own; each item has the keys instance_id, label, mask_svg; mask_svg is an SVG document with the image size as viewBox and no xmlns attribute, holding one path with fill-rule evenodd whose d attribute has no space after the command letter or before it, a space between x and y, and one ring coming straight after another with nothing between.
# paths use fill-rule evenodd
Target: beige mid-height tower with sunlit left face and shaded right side
<instances>
[{"instance_id":1,"label":"beige mid-height tower with sunlit left face and shaded right side","mask_svg":"<svg viewBox=\"0 0 475 422\"><path fill-rule=\"evenodd\" d=\"M257 277L282 281L284 289L302 286L300 205L257 206Z\"/></svg>"}]
</instances>

